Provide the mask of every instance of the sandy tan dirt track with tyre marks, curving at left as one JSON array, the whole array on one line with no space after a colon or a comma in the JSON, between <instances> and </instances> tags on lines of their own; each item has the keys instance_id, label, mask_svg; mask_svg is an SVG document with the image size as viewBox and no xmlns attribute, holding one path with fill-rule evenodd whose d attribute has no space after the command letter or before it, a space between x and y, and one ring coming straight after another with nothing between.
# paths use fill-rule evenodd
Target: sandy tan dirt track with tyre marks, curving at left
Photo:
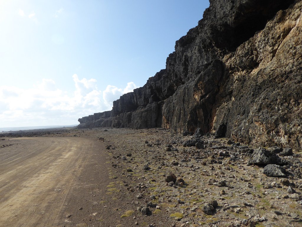
<instances>
[{"instance_id":1,"label":"sandy tan dirt track with tyre marks, curving at left","mask_svg":"<svg viewBox=\"0 0 302 227\"><path fill-rule=\"evenodd\" d=\"M0 150L0 226L57 226L65 210L75 206L66 198L99 148L94 140L79 137L10 143L14 146Z\"/></svg>"}]
</instances>

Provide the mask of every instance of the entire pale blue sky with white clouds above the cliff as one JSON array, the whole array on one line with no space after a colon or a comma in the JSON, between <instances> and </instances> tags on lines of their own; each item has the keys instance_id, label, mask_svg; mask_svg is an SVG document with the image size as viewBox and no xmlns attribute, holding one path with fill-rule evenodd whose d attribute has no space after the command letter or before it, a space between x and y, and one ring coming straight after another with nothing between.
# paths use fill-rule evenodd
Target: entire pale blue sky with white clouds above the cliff
<instances>
[{"instance_id":1,"label":"entire pale blue sky with white clouds above the cliff","mask_svg":"<svg viewBox=\"0 0 302 227\"><path fill-rule=\"evenodd\" d=\"M165 68L207 0L0 0L0 127L79 124Z\"/></svg>"}]
</instances>

